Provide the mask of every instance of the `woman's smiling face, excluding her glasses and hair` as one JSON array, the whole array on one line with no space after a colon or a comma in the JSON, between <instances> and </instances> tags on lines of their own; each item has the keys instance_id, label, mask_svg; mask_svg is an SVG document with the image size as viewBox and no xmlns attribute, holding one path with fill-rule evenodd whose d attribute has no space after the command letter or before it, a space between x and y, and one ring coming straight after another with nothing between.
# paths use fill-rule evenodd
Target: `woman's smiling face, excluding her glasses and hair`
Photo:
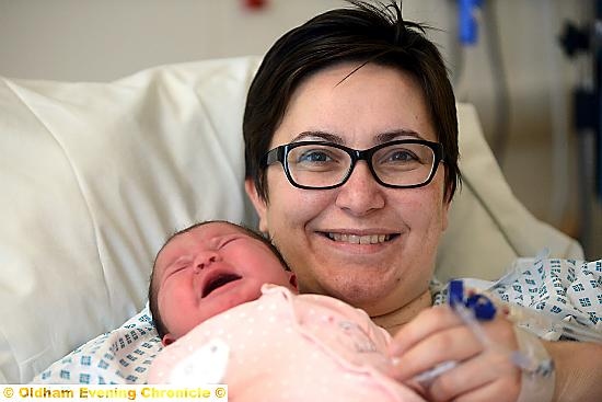
<instances>
[{"instance_id":1,"label":"woman's smiling face, excluding her glasses and hair","mask_svg":"<svg viewBox=\"0 0 602 402\"><path fill-rule=\"evenodd\" d=\"M369 64L347 77L355 68L338 65L304 81L270 149L298 140L336 139L355 149L404 138L437 141L422 92L410 76ZM297 274L300 290L336 297L374 317L428 290L447 226L443 179L440 164L426 186L386 188L360 161L340 187L301 189L275 163L267 169L267 203L251 182L246 188L261 230Z\"/></svg>"}]
</instances>

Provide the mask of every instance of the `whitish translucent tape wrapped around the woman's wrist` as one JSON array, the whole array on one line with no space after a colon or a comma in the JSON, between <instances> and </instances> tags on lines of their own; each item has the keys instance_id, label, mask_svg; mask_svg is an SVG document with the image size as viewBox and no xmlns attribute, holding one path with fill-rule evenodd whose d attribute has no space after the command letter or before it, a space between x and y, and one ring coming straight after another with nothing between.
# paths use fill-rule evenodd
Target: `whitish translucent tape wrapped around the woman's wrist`
<instances>
[{"instance_id":1,"label":"whitish translucent tape wrapped around the woman's wrist","mask_svg":"<svg viewBox=\"0 0 602 402\"><path fill-rule=\"evenodd\" d=\"M554 398L555 369L542 341L514 325L520 354L531 361L521 367L521 391L517 402L551 402Z\"/></svg>"}]
</instances>

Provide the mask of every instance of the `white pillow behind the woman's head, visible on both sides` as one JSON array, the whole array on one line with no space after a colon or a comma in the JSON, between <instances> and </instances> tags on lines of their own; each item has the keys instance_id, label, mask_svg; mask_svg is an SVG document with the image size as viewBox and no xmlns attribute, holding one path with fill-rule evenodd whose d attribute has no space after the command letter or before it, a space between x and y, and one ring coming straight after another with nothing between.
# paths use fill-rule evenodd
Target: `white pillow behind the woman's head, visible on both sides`
<instances>
[{"instance_id":1,"label":"white pillow behind the woman's head, visible on both sides","mask_svg":"<svg viewBox=\"0 0 602 402\"><path fill-rule=\"evenodd\" d=\"M254 225L242 113L255 57L162 66L109 83L0 81L0 381L26 382L140 311L158 249L205 219ZM438 275L500 276L578 244L512 196L474 110L465 185Z\"/></svg>"}]
</instances>

